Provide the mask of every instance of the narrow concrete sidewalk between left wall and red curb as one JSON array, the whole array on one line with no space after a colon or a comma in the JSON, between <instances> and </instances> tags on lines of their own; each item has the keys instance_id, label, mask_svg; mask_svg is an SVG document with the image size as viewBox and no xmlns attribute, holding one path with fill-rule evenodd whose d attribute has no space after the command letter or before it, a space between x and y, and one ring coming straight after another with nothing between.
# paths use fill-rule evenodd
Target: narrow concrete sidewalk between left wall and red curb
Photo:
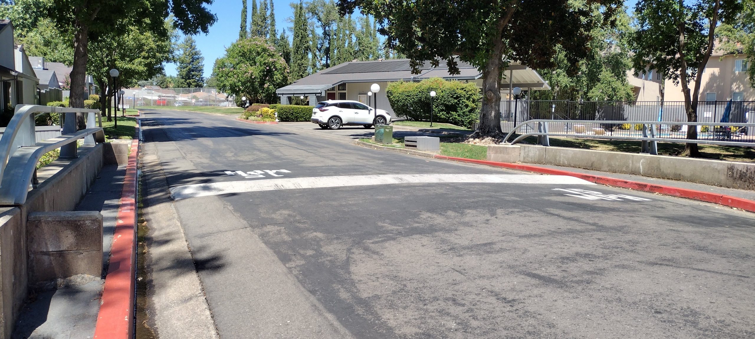
<instances>
[{"instance_id":1,"label":"narrow concrete sidewalk between left wall and red curb","mask_svg":"<svg viewBox=\"0 0 755 339\"><path fill-rule=\"evenodd\" d=\"M116 228L126 166L103 166L94 184L76 206L76 211L103 215L103 272ZM14 329L14 339L91 338L100 310L103 276L72 276L64 286L39 292L24 305Z\"/></svg>"}]
</instances>

